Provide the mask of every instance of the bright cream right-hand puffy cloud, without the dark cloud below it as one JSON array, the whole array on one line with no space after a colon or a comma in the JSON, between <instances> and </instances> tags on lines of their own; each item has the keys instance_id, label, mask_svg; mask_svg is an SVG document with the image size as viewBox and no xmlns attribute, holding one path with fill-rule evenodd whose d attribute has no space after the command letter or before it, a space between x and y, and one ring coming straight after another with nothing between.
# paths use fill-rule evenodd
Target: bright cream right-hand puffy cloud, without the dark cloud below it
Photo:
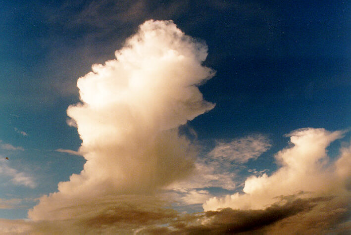
<instances>
[{"instance_id":1,"label":"bright cream right-hand puffy cloud, without the dark cloud below it","mask_svg":"<svg viewBox=\"0 0 351 235\"><path fill-rule=\"evenodd\" d=\"M350 169L351 166L348 150L343 150L342 157L329 165L325 149L332 141L341 138L343 132L306 128L294 131L288 136L294 146L276 154L275 158L281 165L276 172L271 176L264 173L262 176L249 177L245 182L244 194L213 197L203 204L204 210L225 207L264 209L277 202L281 195L300 191L329 195L331 192L340 192L345 187L341 182L350 179L350 174L346 173L346 169Z\"/></svg>"}]
</instances>

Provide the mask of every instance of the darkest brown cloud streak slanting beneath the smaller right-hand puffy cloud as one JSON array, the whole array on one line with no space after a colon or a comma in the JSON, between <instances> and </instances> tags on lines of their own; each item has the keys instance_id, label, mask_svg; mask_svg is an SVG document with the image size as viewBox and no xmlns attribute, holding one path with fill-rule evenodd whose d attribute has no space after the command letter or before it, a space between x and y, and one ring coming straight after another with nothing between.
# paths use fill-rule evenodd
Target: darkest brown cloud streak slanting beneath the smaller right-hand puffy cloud
<instances>
[{"instance_id":1,"label":"darkest brown cloud streak slanting beneath the smaller right-hand puffy cloud","mask_svg":"<svg viewBox=\"0 0 351 235\"><path fill-rule=\"evenodd\" d=\"M297 214L306 213L318 203L331 199L331 197L299 198L283 205L273 204L263 210L224 208L220 211L207 211L201 218L205 223L185 226L184 228L182 228L182 223L178 223L175 224L175 227L189 234L263 233L266 231L266 226Z\"/></svg>"}]
</instances>

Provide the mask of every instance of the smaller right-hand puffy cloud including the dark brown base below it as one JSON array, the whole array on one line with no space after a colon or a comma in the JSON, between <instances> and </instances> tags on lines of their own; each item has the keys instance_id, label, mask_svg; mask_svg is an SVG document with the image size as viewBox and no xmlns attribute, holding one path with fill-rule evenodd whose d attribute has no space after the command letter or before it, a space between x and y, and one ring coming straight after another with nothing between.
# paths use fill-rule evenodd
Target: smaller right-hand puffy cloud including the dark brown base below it
<instances>
[{"instance_id":1,"label":"smaller right-hand puffy cloud including the dark brown base below it","mask_svg":"<svg viewBox=\"0 0 351 235\"><path fill-rule=\"evenodd\" d=\"M276 172L249 177L243 193L208 199L201 226L189 230L344 234L350 229L351 145L333 161L326 151L343 134L305 128L287 135L293 145L276 154Z\"/></svg>"}]
</instances>

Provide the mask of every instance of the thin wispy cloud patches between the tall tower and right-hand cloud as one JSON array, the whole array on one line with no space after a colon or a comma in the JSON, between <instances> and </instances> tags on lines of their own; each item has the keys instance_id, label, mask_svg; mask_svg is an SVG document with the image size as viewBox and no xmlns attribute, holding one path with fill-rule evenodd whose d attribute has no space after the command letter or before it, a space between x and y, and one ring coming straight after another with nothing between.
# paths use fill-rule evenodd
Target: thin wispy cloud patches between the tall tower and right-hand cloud
<instances>
[{"instance_id":1,"label":"thin wispy cloud patches between the tall tower and right-hand cloud","mask_svg":"<svg viewBox=\"0 0 351 235\"><path fill-rule=\"evenodd\" d=\"M231 141L216 141L215 147L198 157L193 174L184 181L177 181L167 188L198 190L199 188L217 187L234 190L237 180L238 165L249 159L257 159L271 146L270 140L263 135L250 135Z\"/></svg>"}]
</instances>

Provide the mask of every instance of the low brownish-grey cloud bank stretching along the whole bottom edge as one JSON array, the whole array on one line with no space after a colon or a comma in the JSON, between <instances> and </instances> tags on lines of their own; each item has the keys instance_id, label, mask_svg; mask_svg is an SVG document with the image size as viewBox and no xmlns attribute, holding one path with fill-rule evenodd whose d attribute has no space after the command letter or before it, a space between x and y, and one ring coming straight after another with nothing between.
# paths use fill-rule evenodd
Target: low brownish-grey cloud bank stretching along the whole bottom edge
<instances>
[{"instance_id":1,"label":"low brownish-grey cloud bank stretching along the whole bottom edge","mask_svg":"<svg viewBox=\"0 0 351 235\"><path fill-rule=\"evenodd\" d=\"M336 201L339 202L338 206L333 207L333 213L321 217L321 213L326 212L325 206ZM73 203L61 208L62 214L69 210L80 211L71 219L37 222L0 220L0 225L7 225L8 234L14 232L15 227L17 232L22 231L23 234L270 234L277 231L324 233L331 231L330 228L337 231L335 225L347 221L347 212L342 208L350 206L346 204L347 201L340 201L343 200L332 196L297 198L297 195L291 195L262 210L224 208L219 211L182 214L166 208L164 201L153 196L121 195L100 197L99 200L87 198L82 205L93 204L95 209L85 212L80 211ZM310 224L317 222L317 228ZM9 224L15 225L12 230ZM2 227L0 232L6 234L6 229Z\"/></svg>"}]
</instances>

